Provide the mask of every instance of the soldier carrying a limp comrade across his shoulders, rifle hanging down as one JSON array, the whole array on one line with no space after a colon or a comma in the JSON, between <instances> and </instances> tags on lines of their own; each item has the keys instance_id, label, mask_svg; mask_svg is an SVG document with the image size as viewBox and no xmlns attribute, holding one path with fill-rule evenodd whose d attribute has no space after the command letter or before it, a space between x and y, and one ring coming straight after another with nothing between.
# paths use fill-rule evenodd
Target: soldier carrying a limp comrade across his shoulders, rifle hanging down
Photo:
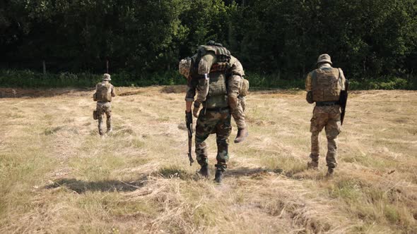
<instances>
[{"instance_id":1,"label":"soldier carrying a limp comrade across his shoulders, rifle hanging down","mask_svg":"<svg viewBox=\"0 0 417 234\"><path fill-rule=\"evenodd\" d=\"M230 64L225 64L230 60L222 62L219 58L217 60L218 68L216 70L211 70L211 68L213 67L213 58L217 57L217 54L221 56L227 56L228 54L230 56L230 52L222 51L223 47L203 48L210 52L200 58L201 54L196 54L192 58L180 61L180 73L188 80L185 117L187 126L191 125L192 102L197 93L197 100L201 100L203 105L203 109L198 113L195 136L196 159L201 166L199 173L201 176L209 177L209 158L205 140L210 134L216 133L217 164L215 165L215 180L217 183L221 183L229 159L228 137L232 130L230 104L228 102L228 80L226 78ZM216 51L211 51L212 48ZM200 102L194 105L194 116L197 115L199 104Z\"/></svg>"}]
</instances>

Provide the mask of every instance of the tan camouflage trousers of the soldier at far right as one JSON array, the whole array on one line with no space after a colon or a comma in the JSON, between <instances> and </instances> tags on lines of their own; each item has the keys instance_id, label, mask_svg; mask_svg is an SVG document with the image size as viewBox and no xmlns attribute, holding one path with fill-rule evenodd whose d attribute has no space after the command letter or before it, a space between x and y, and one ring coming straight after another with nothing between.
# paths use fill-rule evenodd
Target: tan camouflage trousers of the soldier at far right
<instances>
[{"instance_id":1,"label":"tan camouflage trousers of the soldier at far right","mask_svg":"<svg viewBox=\"0 0 417 234\"><path fill-rule=\"evenodd\" d=\"M311 154L313 161L319 160L319 133L326 131L327 137L327 166L335 168L337 166L337 136L341 133L340 106L315 106L311 119Z\"/></svg>"}]
</instances>

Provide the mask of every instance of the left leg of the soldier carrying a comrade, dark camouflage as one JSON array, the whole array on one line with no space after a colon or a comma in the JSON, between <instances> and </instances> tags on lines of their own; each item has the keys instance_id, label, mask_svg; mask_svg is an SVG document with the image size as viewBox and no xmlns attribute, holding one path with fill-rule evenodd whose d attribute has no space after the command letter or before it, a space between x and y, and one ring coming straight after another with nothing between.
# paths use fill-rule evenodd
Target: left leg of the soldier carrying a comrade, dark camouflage
<instances>
[{"instance_id":1,"label":"left leg of the soldier carrying a comrade, dark camouflage","mask_svg":"<svg viewBox=\"0 0 417 234\"><path fill-rule=\"evenodd\" d=\"M199 118L197 118L195 134L196 160L200 166L206 166L209 163L205 140L209 137L217 123L211 111L207 111L205 114L203 111L204 109L200 111Z\"/></svg>"}]
</instances>

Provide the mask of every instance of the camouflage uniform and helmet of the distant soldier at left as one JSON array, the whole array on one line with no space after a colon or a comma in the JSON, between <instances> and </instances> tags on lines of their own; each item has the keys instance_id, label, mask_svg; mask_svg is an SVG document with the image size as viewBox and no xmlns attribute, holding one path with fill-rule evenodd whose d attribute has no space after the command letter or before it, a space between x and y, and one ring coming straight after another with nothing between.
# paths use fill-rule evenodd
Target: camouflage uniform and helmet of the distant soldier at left
<instances>
[{"instance_id":1,"label":"camouflage uniform and helmet of the distant soldier at left","mask_svg":"<svg viewBox=\"0 0 417 234\"><path fill-rule=\"evenodd\" d=\"M97 85L95 85L95 93L97 94L100 86L102 85L108 85L110 86L110 95L111 97L115 97L116 93L114 92L114 86L112 84L110 84L110 75L109 74L105 74L103 75L103 80L102 82L98 83ZM107 133L110 133L112 131L112 105L111 105L111 100L110 101L105 101L105 100L97 100L97 107L96 107L96 111L97 111L97 115L98 115L98 133L100 135L104 135L103 130L102 130L102 125L104 124L103 122L103 115L105 114L107 117L107 121L106 121L106 125L107 125Z\"/></svg>"}]
</instances>

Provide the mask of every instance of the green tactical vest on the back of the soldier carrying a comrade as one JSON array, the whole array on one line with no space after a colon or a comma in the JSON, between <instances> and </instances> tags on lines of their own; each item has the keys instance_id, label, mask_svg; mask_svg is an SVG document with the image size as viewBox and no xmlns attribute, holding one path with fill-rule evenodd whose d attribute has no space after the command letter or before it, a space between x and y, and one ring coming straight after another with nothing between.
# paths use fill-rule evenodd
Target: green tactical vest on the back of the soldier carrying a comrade
<instances>
[{"instance_id":1,"label":"green tactical vest on the back of the soldier carrying a comrade","mask_svg":"<svg viewBox=\"0 0 417 234\"><path fill-rule=\"evenodd\" d=\"M209 94L204 102L204 107L213 109L227 106L229 106L229 104L225 73L210 73Z\"/></svg>"}]
</instances>

